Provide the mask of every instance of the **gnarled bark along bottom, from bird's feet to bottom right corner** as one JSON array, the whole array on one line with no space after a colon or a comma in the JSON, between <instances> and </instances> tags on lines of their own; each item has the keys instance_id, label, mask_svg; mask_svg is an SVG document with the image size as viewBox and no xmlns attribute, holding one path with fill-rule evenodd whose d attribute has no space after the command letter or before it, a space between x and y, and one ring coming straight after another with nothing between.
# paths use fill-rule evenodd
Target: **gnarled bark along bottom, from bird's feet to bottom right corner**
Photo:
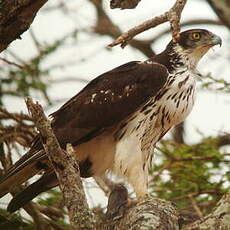
<instances>
[{"instance_id":1,"label":"gnarled bark along bottom, from bird's feet to bottom right corner","mask_svg":"<svg viewBox=\"0 0 230 230\"><path fill-rule=\"evenodd\" d=\"M128 209L118 220L108 221L106 230L229 230L230 192L217 203L213 211L192 224L184 224L176 206L165 200L151 198Z\"/></svg>"}]
</instances>

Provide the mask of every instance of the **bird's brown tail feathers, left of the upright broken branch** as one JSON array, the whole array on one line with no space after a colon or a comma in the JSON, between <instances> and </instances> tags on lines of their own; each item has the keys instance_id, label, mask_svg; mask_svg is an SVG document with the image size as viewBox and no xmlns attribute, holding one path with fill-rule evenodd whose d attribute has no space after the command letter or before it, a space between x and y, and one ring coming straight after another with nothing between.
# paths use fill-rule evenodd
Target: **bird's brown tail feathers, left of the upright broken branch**
<instances>
[{"instance_id":1,"label":"bird's brown tail feathers, left of the upright broken branch","mask_svg":"<svg viewBox=\"0 0 230 230\"><path fill-rule=\"evenodd\" d=\"M16 211L38 194L58 185L56 174L43 149L41 138L37 135L31 149L0 178L0 198L41 171L45 171L43 176L17 194L8 205L8 211Z\"/></svg>"}]
</instances>

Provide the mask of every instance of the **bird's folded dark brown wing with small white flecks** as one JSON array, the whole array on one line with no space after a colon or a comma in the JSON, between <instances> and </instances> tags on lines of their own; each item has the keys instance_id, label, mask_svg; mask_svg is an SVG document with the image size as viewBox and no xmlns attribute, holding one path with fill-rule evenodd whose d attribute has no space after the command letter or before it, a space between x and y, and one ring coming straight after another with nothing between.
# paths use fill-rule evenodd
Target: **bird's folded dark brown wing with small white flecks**
<instances>
[{"instance_id":1,"label":"bird's folded dark brown wing with small white flecks","mask_svg":"<svg viewBox=\"0 0 230 230\"><path fill-rule=\"evenodd\" d=\"M125 119L156 95L167 76L161 64L133 61L95 78L51 114L60 144L87 141Z\"/></svg>"}]
</instances>

